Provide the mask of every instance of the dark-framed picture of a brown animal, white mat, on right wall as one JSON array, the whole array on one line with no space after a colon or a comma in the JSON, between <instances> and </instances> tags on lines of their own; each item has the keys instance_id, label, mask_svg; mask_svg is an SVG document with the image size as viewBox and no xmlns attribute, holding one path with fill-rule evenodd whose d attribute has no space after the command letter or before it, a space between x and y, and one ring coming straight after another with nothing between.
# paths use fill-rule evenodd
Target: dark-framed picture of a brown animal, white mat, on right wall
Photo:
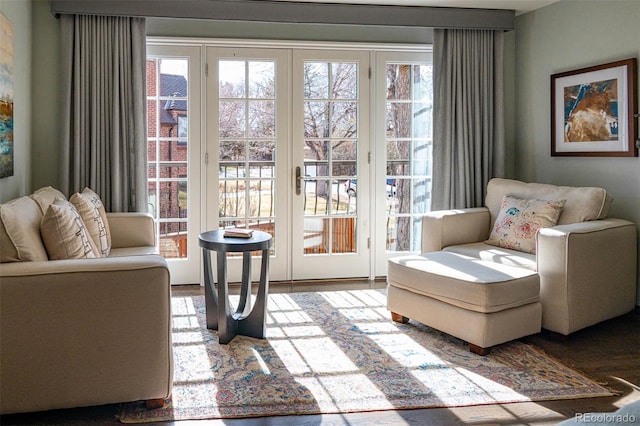
<instances>
[{"instance_id":1,"label":"dark-framed picture of a brown animal, white mat, on right wall","mask_svg":"<svg viewBox=\"0 0 640 426\"><path fill-rule=\"evenodd\" d=\"M551 75L551 155L638 155L636 58Z\"/></svg>"}]
</instances>

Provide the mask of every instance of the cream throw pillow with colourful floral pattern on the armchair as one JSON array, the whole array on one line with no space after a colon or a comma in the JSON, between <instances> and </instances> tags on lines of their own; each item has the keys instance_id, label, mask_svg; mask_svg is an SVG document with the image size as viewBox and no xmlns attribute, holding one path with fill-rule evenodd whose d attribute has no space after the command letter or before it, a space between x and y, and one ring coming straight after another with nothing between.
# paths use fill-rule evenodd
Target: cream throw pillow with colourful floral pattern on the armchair
<instances>
[{"instance_id":1,"label":"cream throw pillow with colourful floral pattern on the armchair","mask_svg":"<svg viewBox=\"0 0 640 426\"><path fill-rule=\"evenodd\" d=\"M538 229L555 226L564 203L565 200L525 200L505 195L486 243L535 254Z\"/></svg>"}]
</instances>

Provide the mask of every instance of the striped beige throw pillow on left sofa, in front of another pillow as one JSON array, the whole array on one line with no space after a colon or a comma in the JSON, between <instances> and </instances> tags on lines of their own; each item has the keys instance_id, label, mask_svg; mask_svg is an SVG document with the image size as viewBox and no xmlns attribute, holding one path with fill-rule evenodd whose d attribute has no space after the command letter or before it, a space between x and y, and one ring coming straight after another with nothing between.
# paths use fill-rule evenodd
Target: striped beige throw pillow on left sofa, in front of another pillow
<instances>
[{"instance_id":1,"label":"striped beige throw pillow on left sofa, in front of another pillow","mask_svg":"<svg viewBox=\"0 0 640 426\"><path fill-rule=\"evenodd\" d=\"M69 201L58 199L49 205L40 234L49 260L100 257L80 214Z\"/></svg>"}]
</instances>

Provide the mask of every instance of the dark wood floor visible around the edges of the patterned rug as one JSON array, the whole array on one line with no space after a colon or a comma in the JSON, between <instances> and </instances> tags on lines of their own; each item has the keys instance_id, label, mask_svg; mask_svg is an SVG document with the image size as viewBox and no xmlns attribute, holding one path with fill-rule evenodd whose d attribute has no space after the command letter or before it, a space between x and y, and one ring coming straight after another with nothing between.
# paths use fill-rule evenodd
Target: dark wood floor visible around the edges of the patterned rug
<instances>
[{"instance_id":1,"label":"dark wood floor visible around the edges of the patterned rug","mask_svg":"<svg viewBox=\"0 0 640 426\"><path fill-rule=\"evenodd\" d=\"M278 284L271 292L381 288L384 283ZM174 288L174 294L198 294L196 286ZM579 413L612 412L640 400L640 310L578 331L566 339L541 333L527 338L565 364L606 382L619 395L548 402L495 404L475 407L380 411L345 415L286 416L238 420L168 422L186 426L230 425L552 425ZM1 396L0 396L1 398ZM0 399L1 403L1 399ZM55 410L43 413L5 415L5 425L116 425L118 405Z\"/></svg>"}]
</instances>

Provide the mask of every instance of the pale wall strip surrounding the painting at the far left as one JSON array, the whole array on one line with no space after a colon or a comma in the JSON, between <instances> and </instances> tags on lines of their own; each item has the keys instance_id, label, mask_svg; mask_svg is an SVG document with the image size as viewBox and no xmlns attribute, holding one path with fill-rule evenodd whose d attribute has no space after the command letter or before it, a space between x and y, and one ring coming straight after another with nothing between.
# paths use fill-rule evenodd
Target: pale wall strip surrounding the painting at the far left
<instances>
[{"instance_id":1,"label":"pale wall strip surrounding the painting at the far left","mask_svg":"<svg viewBox=\"0 0 640 426\"><path fill-rule=\"evenodd\" d=\"M0 202L29 193L31 186L31 2L0 1L13 23L14 175L0 179Z\"/></svg>"}]
</instances>

